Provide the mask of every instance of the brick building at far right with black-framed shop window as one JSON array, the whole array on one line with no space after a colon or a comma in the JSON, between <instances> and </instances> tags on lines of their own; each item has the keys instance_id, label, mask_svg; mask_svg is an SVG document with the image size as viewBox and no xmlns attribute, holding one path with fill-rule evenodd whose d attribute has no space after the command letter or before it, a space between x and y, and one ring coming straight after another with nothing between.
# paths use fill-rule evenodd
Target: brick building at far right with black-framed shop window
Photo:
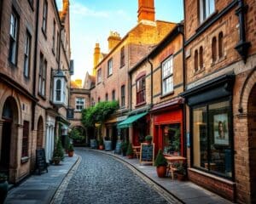
<instances>
[{"instance_id":1,"label":"brick building at far right with black-framed shop window","mask_svg":"<svg viewBox=\"0 0 256 204\"><path fill-rule=\"evenodd\" d=\"M183 1L189 179L256 201L255 1Z\"/></svg>"}]
</instances>

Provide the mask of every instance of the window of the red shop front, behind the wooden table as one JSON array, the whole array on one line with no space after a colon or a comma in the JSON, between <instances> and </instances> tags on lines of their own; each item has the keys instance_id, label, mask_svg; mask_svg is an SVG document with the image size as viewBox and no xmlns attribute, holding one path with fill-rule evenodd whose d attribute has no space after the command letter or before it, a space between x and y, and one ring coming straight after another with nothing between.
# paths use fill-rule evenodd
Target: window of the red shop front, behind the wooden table
<instances>
[{"instance_id":1,"label":"window of the red shop front, behind the wooden table","mask_svg":"<svg viewBox=\"0 0 256 204\"><path fill-rule=\"evenodd\" d=\"M163 128L163 149L167 155L181 155L181 125L169 124Z\"/></svg>"}]
</instances>

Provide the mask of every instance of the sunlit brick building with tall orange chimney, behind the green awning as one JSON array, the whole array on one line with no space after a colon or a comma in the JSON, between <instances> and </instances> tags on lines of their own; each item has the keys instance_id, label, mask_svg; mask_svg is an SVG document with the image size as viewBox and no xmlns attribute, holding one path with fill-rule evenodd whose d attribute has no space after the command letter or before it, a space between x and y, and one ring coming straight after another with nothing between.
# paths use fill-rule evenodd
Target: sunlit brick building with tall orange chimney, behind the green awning
<instances>
[{"instance_id":1,"label":"sunlit brick building with tall orange chimney, behind the green awning","mask_svg":"<svg viewBox=\"0 0 256 204\"><path fill-rule=\"evenodd\" d=\"M119 110L105 122L103 136L111 137L113 147L117 139L117 122L123 121L130 111L128 71L143 59L156 43L160 42L172 30L175 24L154 20L154 1L138 1L138 24L125 37L111 32L108 37L108 54L102 54L99 44L95 48L96 86L91 89L92 103L104 100L119 100ZM130 133L129 133L130 131ZM122 137L128 139L131 128L121 130Z\"/></svg>"}]
</instances>

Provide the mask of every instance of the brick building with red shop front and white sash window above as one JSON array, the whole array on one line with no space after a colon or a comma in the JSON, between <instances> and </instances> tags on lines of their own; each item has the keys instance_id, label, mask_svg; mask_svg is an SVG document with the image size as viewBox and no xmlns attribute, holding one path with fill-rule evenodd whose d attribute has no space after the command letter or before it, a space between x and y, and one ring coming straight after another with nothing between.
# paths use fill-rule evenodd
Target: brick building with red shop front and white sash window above
<instances>
[{"instance_id":1,"label":"brick building with red shop front and white sash window above","mask_svg":"<svg viewBox=\"0 0 256 204\"><path fill-rule=\"evenodd\" d=\"M166 37L130 71L131 112L147 114L135 122L133 144L154 136L155 152L184 155L183 142L183 25ZM141 113L142 112L142 113ZM143 116L143 115L142 115ZM142 125L140 126L140 123ZM140 130L143 128L143 131Z\"/></svg>"}]
</instances>

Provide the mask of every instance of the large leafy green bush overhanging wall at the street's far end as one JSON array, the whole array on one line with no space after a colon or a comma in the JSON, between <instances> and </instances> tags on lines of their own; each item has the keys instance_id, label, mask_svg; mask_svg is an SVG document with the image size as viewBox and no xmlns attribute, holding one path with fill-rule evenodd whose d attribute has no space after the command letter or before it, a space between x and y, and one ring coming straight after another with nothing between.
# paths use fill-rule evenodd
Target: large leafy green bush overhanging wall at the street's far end
<instances>
[{"instance_id":1,"label":"large leafy green bush overhanging wall at the street's far end","mask_svg":"<svg viewBox=\"0 0 256 204\"><path fill-rule=\"evenodd\" d=\"M119 108L117 101L102 101L82 111L84 127L94 127L95 123L106 121Z\"/></svg>"}]
</instances>

